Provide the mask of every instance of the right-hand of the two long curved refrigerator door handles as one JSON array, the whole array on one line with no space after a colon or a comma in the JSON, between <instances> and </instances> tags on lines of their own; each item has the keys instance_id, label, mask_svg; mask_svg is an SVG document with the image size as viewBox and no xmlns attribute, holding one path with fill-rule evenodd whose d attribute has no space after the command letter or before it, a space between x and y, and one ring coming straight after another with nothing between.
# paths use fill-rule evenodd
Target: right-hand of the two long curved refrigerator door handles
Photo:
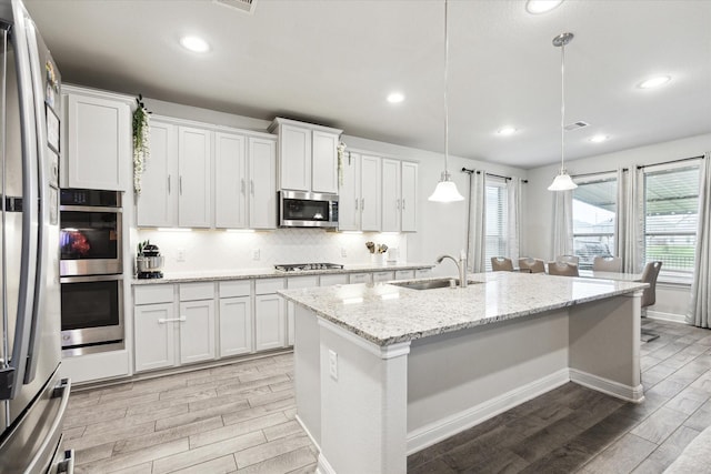
<instances>
[{"instance_id":1,"label":"right-hand of the two long curved refrigerator door handles","mask_svg":"<svg viewBox=\"0 0 711 474\"><path fill-rule=\"evenodd\" d=\"M30 325L30 341L28 344L27 354L27 369L24 371L26 384L29 384L34 380L37 374L37 361L39 360L38 353L40 351L40 337L37 336L39 331L38 324L41 317L40 310L44 307L44 280L47 278L47 218L49 216L49 195L44 195L48 182L47 168L44 167L44 150L47 149L47 137L44 128L47 127L47 115L44 112L44 64L40 62L40 54L38 51L37 32L34 31L34 23L28 21L27 39L30 50L30 70L32 72L32 97L34 98L34 119L37 123L37 194L39 199L38 210L38 236L37 236L37 266L34 276L34 304L32 305L32 323ZM40 68L38 70L38 68Z\"/></svg>"}]
</instances>

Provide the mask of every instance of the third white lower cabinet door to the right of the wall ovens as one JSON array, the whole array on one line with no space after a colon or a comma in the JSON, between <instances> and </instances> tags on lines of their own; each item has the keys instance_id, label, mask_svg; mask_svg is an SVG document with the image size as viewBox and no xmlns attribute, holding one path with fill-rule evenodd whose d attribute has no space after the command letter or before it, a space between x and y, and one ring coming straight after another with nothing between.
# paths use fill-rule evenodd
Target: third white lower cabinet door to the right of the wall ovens
<instances>
[{"instance_id":1,"label":"third white lower cabinet door to the right of the wall ovens","mask_svg":"<svg viewBox=\"0 0 711 474\"><path fill-rule=\"evenodd\" d=\"M252 305L249 296L220 300L220 356L252 352Z\"/></svg>"}]
</instances>

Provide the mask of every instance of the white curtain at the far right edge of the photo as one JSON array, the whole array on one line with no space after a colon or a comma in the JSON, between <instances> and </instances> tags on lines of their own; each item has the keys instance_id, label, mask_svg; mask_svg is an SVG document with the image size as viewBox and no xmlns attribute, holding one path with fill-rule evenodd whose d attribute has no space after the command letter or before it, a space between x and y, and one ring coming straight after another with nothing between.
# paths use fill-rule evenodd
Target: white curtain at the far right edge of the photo
<instances>
[{"instance_id":1,"label":"white curtain at the far right edge of the photo","mask_svg":"<svg viewBox=\"0 0 711 474\"><path fill-rule=\"evenodd\" d=\"M711 307L711 152L707 152L700 168L699 229L694 254L691 309L687 322L699 327L709 325Z\"/></svg>"}]
</instances>

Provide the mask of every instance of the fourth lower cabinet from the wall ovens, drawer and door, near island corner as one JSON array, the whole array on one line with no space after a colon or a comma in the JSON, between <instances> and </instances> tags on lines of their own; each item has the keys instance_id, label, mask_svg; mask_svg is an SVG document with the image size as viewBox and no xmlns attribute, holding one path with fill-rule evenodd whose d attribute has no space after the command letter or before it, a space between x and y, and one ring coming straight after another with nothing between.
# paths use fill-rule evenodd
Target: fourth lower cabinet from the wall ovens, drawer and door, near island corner
<instances>
[{"instance_id":1,"label":"fourth lower cabinet from the wall ovens, drawer and door, near island corner","mask_svg":"<svg viewBox=\"0 0 711 474\"><path fill-rule=\"evenodd\" d=\"M287 343L286 304L277 294L283 290L283 279L254 281L254 350L267 351L283 347Z\"/></svg>"}]
</instances>

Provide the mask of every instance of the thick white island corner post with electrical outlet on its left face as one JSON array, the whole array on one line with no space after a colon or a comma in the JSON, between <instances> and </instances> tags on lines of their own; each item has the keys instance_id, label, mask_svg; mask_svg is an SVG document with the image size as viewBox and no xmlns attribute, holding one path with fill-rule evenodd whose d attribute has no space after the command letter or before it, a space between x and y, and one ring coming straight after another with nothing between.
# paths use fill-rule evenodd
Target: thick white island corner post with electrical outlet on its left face
<instances>
[{"instance_id":1,"label":"thick white island corner post with electrical outlet on its left face","mask_svg":"<svg viewBox=\"0 0 711 474\"><path fill-rule=\"evenodd\" d=\"M404 474L410 343L380 347L324 320L319 472ZM337 354L334 377L330 365Z\"/></svg>"}]
</instances>

